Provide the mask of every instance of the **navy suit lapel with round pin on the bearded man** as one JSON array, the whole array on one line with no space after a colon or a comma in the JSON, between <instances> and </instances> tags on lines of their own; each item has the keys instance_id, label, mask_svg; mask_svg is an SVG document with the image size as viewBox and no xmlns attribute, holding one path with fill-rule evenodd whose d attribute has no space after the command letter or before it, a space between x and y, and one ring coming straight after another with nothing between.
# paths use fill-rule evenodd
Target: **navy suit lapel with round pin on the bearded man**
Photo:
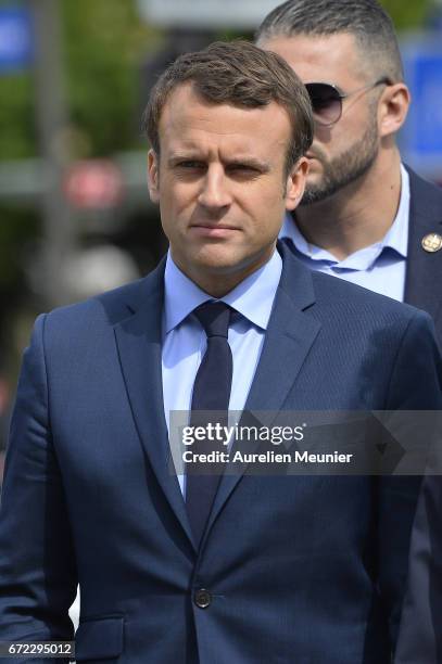
<instances>
[{"instance_id":1,"label":"navy suit lapel with round pin on the bearded man","mask_svg":"<svg viewBox=\"0 0 442 664\"><path fill-rule=\"evenodd\" d=\"M442 234L442 191L408 169L411 187L405 302L428 311L434 321L442 310L442 251L422 248L422 238Z\"/></svg>"}]
</instances>

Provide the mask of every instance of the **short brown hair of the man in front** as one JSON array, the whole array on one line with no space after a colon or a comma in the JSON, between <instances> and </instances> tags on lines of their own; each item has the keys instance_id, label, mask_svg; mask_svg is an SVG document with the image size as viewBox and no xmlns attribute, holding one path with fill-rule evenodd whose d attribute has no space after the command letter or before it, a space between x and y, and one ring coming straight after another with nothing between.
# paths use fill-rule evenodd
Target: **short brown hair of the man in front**
<instances>
[{"instance_id":1,"label":"short brown hair of the man in front","mask_svg":"<svg viewBox=\"0 0 442 664\"><path fill-rule=\"evenodd\" d=\"M276 53L243 40L215 41L202 51L180 55L157 80L143 113L142 129L160 155L159 124L168 95L178 86L192 82L204 100L244 108L266 106L273 101L287 112L292 138L286 156L290 173L313 140L312 106L305 87L293 69Z\"/></svg>"}]
</instances>

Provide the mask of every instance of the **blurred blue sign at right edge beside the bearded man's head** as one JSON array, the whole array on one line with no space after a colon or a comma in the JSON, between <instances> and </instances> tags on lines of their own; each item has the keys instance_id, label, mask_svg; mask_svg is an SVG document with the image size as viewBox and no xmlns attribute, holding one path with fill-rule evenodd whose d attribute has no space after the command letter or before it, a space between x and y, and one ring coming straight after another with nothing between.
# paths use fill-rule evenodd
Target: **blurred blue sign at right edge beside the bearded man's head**
<instances>
[{"instance_id":1,"label":"blurred blue sign at right edge beside the bearded man's head","mask_svg":"<svg viewBox=\"0 0 442 664\"><path fill-rule=\"evenodd\" d=\"M442 40L438 34L403 44L405 80L412 92L401 152L429 177L442 176Z\"/></svg>"}]
</instances>

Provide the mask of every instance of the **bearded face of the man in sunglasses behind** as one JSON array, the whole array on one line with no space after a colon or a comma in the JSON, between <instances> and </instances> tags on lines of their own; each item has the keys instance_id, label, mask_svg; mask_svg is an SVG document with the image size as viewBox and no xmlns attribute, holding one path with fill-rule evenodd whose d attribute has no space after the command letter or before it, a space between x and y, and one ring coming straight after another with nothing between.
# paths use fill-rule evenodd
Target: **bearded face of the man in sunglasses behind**
<instances>
[{"instance_id":1,"label":"bearded face of the man in sunglasses behind","mask_svg":"<svg viewBox=\"0 0 442 664\"><path fill-rule=\"evenodd\" d=\"M375 82L363 68L350 34L275 37L263 47L281 55L304 84L329 82L348 94ZM302 203L323 201L363 176L379 151L376 91L361 91L342 100L342 116L334 125L315 124L315 139L307 153L310 170Z\"/></svg>"}]
</instances>

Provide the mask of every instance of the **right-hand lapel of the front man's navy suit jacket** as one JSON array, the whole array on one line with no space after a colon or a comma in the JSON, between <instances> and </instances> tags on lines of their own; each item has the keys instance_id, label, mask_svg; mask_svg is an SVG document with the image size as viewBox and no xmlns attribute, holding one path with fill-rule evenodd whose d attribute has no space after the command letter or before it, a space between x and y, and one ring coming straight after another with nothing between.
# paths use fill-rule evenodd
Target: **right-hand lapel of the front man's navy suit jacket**
<instances>
[{"instance_id":1,"label":"right-hand lapel of the front man's navy suit jacket","mask_svg":"<svg viewBox=\"0 0 442 664\"><path fill-rule=\"evenodd\" d=\"M266 426L271 425L278 411L283 409L286 398L320 330L320 323L305 312L315 302L310 270L291 255L290 250L280 245L279 248L283 257L281 281L241 424L245 422L251 424L251 421L254 421L260 425L261 411L273 411L271 421L265 421ZM257 445L258 442L255 443L255 447ZM253 451L253 445L248 447L248 451ZM238 470L235 475L222 477L204 539L245 472L247 464L236 468Z\"/></svg>"}]
</instances>

